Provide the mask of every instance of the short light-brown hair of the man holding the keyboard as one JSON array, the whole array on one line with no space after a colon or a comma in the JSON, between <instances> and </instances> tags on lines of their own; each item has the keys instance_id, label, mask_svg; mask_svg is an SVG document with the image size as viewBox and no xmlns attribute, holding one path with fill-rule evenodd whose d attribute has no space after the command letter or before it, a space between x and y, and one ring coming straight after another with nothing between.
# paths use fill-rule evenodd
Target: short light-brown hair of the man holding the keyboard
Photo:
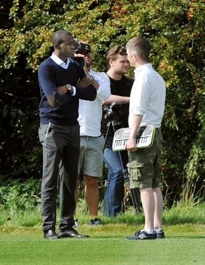
<instances>
[{"instance_id":1,"label":"short light-brown hair of the man holding the keyboard","mask_svg":"<svg viewBox=\"0 0 205 265\"><path fill-rule=\"evenodd\" d=\"M126 48L130 53L138 55L143 61L149 61L151 46L149 40L145 37L134 37L130 39L126 44Z\"/></svg>"}]
</instances>

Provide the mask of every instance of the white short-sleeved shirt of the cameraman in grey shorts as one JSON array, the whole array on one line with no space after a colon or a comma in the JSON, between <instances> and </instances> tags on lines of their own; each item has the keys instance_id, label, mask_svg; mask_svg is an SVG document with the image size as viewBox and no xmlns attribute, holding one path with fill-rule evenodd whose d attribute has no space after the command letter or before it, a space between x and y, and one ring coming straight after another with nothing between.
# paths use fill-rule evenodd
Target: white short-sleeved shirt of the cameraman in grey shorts
<instances>
[{"instance_id":1,"label":"white short-sleeved shirt of the cameraman in grey shorts","mask_svg":"<svg viewBox=\"0 0 205 265\"><path fill-rule=\"evenodd\" d=\"M79 99L80 135L99 136L101 135L102 102L111 96L110 78L106 73L94 72L91 68L88 73L99 83L99 88L94 101Z\"/></svg>"}]
</instances>

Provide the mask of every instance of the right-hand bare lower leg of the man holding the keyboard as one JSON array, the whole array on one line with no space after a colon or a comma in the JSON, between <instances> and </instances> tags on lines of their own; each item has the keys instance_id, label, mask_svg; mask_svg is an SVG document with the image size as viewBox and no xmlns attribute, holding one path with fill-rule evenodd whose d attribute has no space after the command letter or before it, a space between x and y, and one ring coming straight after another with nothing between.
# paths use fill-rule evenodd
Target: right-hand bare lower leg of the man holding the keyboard
<instances>
[{"instance_id":1,"label":"right-hand bare lower leg of the man holding the keyboard","mask_svg":"<svg viewBox=\"0 0 205 265\"><path fill-rule=\"evenodd\" d=\"M160 188L153 189L155 211L154 211L154 229L162 229L163 197Z\"/></svg>"}]
</instances>

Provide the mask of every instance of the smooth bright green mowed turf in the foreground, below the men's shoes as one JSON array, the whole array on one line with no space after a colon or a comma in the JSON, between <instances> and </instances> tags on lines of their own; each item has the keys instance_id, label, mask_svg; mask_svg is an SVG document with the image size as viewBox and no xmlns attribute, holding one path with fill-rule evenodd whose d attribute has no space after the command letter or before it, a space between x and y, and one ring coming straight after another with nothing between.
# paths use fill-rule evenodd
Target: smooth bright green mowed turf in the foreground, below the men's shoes
<instances>
[{"instance_id":1,"label":"smooth bright green mowed turf in the foreground, below the men's shoes","mask_svg":"<svg viewBox=\"0 0 205 265\"><path fill-rule=\"evenodd\" d=\"M205 238L167 236L125 240L124 235L47 240L39 235L0 236L0 265L205 264ZM26 237L26 238L25 238Z\"/></svg>"}]
</instances>

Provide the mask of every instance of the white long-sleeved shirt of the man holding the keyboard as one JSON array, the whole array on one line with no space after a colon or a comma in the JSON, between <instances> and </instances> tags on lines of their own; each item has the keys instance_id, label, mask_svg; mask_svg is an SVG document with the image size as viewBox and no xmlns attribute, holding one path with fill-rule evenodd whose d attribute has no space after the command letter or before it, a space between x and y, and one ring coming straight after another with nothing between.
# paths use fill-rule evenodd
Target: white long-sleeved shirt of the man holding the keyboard
<instances>
[{"instance_id":1,"label":"white long-sleeved shirt of the man holding the keyboard","mask_svg":"<svg viewBox=\"0 0 205 265\"><path fill-rule=\"evenodd\" d=\"M130 94L129 127L133 114L143 116L140 126L161 126L164 115L166 87L161 75L151 64L145 64L134 70L135 81Z\"/></svg>"}]
</instances>

